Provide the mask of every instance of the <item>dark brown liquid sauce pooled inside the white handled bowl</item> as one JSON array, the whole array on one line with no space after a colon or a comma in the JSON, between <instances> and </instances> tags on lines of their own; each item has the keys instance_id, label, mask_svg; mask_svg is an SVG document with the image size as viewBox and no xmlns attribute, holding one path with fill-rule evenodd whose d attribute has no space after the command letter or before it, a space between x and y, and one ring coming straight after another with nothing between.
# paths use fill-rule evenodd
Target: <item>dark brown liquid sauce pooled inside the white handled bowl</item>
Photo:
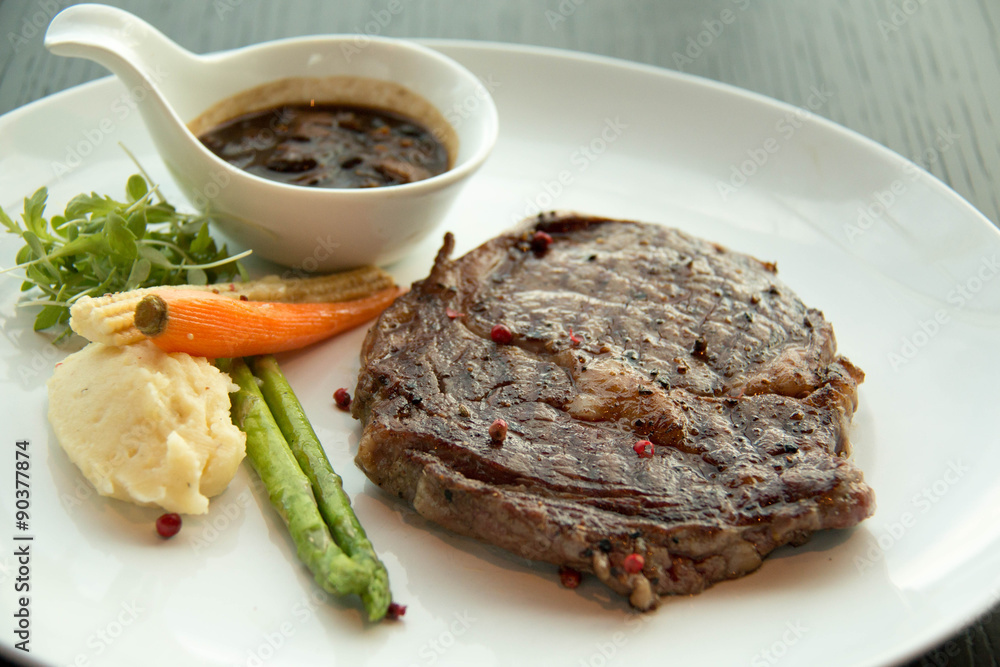
<instances>
[{"instance_id":1,"label":"dark brown liquid sauce pooled inside the white handled bowl","mask_svg":"<svg viewBox=\"0 0 1000 667\"><path fill-rule=\"evenodd\" d=\"M228 120L198 137L256 176L318 188L400 185L448 170L448 151L416 121L343 104L287 104Z\"/></svg>"}]
</instances>

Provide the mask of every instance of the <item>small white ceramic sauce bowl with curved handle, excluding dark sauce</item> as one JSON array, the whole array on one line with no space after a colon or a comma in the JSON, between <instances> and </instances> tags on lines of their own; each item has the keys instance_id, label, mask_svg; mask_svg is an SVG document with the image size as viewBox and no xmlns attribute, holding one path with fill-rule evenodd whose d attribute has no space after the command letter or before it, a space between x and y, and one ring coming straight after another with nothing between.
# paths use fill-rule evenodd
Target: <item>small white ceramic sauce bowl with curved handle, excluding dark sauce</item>
<instances>
[{"instance_id":1,"label":"small white ceramic sauce bowl with curved handle, excluding dark sauce","mask_svg":"<svg viewBox=\"0 0 1000 667\"><path fill-rule=\"evenodd\" d=\"M404 40L302 37L196 55L128 12L85 4L52 20L45 46L116 74L191 203L237 243L304 271L402 257L437 226L496 142L497 111L483 84ZM234 167L197 136L243 113L313 101L409 116L444 144L450 168L387 187L289 185Z\"/></svg>"}]
</instances>

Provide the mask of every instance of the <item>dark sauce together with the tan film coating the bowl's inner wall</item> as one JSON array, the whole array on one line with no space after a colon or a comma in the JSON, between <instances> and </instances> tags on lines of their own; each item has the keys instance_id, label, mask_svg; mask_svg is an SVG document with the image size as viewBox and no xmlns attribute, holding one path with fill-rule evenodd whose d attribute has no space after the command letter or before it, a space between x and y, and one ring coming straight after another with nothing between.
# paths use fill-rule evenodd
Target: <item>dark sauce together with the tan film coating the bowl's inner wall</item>
<instances>
[{"instance_id":1,"label":"dark sauce together with the tan film coating the bowl's inner wall","mask_svg":"<svg viewBox=\"0 0 1000 667\"><path fill-rule=\"evenodd\" d=\"M272 181L361 189L450 170L458 135L422 96L363 77L279 79L225 98L188 123L212 153Z\"/></svg>"}]
</instances>

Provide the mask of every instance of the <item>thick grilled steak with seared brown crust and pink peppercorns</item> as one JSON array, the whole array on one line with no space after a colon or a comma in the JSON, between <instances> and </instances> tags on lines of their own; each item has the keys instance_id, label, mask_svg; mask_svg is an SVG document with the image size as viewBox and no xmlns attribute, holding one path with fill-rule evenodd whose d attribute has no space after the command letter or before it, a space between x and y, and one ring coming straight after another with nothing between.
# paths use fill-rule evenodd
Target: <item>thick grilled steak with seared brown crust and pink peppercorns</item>
<instances>
[{"instance_id":1,"label":"thick grilled steak with seared brown crust and pink peppercorns","mask_svg":"<svg viewBox=\"0 0 1000 667\"><path fill-rule=\"evenodd\" d=\"M650 609L873 512L864 375L773 264L569 214L452 248L370 330L353 408L358 465L424 517Z\"/></svg>"}]
</instances>

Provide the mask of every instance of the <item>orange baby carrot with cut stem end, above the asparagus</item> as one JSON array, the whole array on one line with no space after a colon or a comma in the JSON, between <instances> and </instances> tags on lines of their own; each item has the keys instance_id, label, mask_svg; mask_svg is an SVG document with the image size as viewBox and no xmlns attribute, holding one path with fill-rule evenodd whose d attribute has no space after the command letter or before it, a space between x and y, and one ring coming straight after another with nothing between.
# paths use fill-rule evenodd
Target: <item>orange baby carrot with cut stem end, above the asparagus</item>
<instances>
[{"instance_id":1,"label":"orange baby carrot with cut stem end, above the asparagus","mask_svg":"<svg viewBox=\"0 0 1000 667\"><path fill-rule=\"evenodd\" d=\"M143 297L135 326L165 352L219 359L285 352L352 329L399 296L396 287L355 301L236 301L212 292L163 290Z\"/></svg>"}]
</instances>

